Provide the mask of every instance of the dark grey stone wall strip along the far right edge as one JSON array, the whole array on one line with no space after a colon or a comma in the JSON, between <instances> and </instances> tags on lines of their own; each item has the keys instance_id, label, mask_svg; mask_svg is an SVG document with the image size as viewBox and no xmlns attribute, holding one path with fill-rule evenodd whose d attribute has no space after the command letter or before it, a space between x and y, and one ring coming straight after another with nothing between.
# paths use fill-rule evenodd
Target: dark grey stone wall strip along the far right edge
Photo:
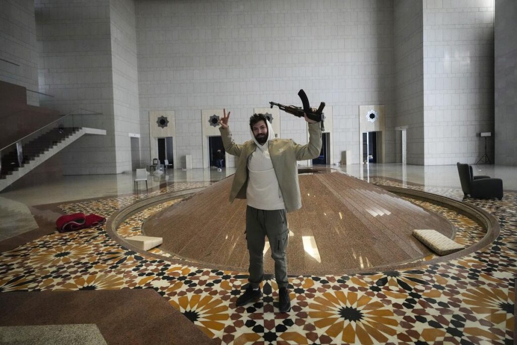
<instances>
[{"instance_id":1,"label":"dark grey stone wall strip along the far right edge","mask_svg":"<svg viewBox=\"0 0 517 345\"><path fill-rule=\"evenodd\" d=\"M495 2L495 163L517 165L517 35L515 0Z\"/></svg>"}]
</instances>

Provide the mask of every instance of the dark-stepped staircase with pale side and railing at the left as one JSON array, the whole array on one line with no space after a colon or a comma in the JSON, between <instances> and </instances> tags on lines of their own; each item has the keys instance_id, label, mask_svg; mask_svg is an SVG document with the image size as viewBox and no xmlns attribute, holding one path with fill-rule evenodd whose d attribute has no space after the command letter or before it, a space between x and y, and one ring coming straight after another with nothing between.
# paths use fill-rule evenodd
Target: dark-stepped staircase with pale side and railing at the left
<instances>
[{"instance_id":1,"label":"dark-stepped staircase with pale side and railing at the left","mask_svg":"<svg viewBox=\"0 0 517 345\"><path fill-rule=\"evenodd\" d=\"M18 163L16 148L3 154L0 172L0 191L85 134L106 135L106 131L86 127L52 128L39 137L23 144L21 166Z\"/></svg>"}]
</instances>

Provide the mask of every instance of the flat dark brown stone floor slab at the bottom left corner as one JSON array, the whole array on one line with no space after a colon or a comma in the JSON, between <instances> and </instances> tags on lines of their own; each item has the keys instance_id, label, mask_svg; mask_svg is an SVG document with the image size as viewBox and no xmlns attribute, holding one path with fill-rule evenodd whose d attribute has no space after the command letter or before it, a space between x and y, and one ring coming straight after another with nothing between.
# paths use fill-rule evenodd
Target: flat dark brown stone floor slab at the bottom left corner
<instances>
[{"instance_id":1,"label":"flat dark brown stone floor slab at the bottom left corner","mask_svg":"<svg viewBox=\"0 0 517 345\"><path fill-rule=\"evenodd\" d=\"M0 293L0 326L96 324L108 344L215 344L152 289Z\"/></svg>"}]
</instances>

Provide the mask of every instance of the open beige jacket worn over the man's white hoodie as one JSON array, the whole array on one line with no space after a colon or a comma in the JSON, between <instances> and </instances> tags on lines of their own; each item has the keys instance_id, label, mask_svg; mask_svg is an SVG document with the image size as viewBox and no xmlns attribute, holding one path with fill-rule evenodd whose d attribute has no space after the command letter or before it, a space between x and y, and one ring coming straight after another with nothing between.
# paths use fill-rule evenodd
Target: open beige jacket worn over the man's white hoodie
<instances>
[{"instance_id":1,"label":"open beige jacket worn over the man's white hoodie","mask_svg":"<svg viewBox=\"0 0 517 345\"><path fill-rule=\"evenodd\" d=\"M301 207L300 186L298 185L297 160L313 159L320 155L322 147L320 123L309 125L309 143L299 145L292 139L273 139L268 141L269 155L278 179L278 185L284 199L287 212L296 211ZM235 176L230 191L230 202L246 199L248 185L248 157L255 151L256 144L248 140L242 145L232 139L230 129L219 128L224 149L230 155L237 156Z\"/></svg>"}]
</instances>

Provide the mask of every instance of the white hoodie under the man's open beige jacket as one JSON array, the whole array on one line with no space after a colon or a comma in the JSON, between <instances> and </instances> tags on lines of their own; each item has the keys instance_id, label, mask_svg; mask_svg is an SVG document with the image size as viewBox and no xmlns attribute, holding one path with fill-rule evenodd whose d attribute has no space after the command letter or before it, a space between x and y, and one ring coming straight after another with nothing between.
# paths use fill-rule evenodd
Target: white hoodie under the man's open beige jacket
<instances>
[{"instance_id":1,"label":"white hoodie under the man's open beige jacket","mask_svg":"<svg viewBox=\"0 0 517 345\"><path fill-rule=\"evenodd\" d=\"M278 185L277 175L269 156L268 142L275 139L273 127L266 120L267 140L259 144L250 128L251 139L257 145L255 152L248 157L248 187L246 200L249 206L258 209L285 209L284 199Z\"/></svg>"}]
</instances>

